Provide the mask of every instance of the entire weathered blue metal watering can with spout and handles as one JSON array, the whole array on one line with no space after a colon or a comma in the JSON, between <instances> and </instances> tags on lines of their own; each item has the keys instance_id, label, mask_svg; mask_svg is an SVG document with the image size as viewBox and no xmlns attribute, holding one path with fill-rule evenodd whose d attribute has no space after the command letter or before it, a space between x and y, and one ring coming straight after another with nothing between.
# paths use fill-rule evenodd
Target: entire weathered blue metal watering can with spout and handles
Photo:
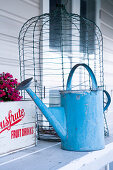
<instances>
[{"instance_id":1,"label":"entire weathered blue metal watering can with spout and handles","mask_svg":"<svg viewBox=\"0 0 113 170\"><path fill-rule=\"evenodd\" d=\"M89 72L92 79L92 90L71 90L72 76L79 66L85 67ZM62 149L93 151L104 148L103 112L110 105L111 98L107 91L98 88L95 75L88 65L77 64L71 69L66 90L60 91L61 107L46 107L29 88L31 80L32 78L23 81L17 89L26 89L61 138ZM105 107L103 92L108 98Z\"/></svg>"}]
</instances>

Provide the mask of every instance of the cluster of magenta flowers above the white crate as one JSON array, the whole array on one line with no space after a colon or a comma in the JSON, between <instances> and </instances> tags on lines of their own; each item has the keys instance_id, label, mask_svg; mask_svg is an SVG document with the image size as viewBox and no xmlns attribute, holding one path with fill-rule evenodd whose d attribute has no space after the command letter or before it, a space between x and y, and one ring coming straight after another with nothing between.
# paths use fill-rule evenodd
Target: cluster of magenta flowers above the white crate
<instances>
[{"instance_id":1,"label":"cluster of magenta flowers above the white crate","mask_svg":"<svg viewBox=\"0 0 113 170\"><path fill-rule=\"evenodd\" d=\"M19 85L17 79L13 79L10 73L0 74L0 102L4 101L20 101L22 96L16 90Z\"/></svg>"}]
</instances>

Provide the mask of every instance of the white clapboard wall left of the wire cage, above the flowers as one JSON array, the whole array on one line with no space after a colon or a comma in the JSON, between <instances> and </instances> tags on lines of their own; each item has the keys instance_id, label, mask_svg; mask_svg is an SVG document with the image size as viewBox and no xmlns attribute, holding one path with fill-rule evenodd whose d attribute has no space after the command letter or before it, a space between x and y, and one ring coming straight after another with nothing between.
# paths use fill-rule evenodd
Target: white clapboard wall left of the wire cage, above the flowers
<instances>
[{"instance_id":1,"label":"white clapboard wall left of the wire cage, above the flowers","mask_svg":"<svg viewBox=\"0 0 113 170\"><path fill-rule=\"evenodd\" d=\"M0 0L0 73L20 81L18 35L22 25L40 15L40 0Z\"/></svg>"}]
</instances>

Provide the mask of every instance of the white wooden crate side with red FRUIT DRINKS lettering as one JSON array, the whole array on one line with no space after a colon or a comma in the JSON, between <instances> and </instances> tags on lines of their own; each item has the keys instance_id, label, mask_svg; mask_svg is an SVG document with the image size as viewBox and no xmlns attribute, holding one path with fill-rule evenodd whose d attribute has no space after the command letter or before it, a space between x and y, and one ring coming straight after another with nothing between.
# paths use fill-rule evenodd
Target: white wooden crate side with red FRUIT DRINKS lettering
<instances>
[{"instance_id":1,"label":"white wooden crate side with red FRUIT DRINKS lettering","mask_svg":"<svg viewBox=\"0 0 113 170\"><path fill-rule=\"evenodd\" d=\"M0 154L35 145L35 122L32 101L0 103Z\"/></svg>"}]
</instances>

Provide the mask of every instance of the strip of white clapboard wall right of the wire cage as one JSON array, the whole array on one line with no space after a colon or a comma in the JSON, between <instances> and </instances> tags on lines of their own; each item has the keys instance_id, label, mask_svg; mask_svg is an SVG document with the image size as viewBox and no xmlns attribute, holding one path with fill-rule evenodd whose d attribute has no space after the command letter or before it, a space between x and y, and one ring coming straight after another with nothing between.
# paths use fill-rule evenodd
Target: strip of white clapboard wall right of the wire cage
<instances>
[{"instance_id":1,"label":"strip of white clapboard wall right of the wire cage","mask_svg":"<svg viewBox=\"0 0 113 170\"><path fill-rule=\"evenodd\" d=\"M104 80L113 100L113 0L101 0L100 29L103 34ZM110 133L113 133L113 101L107 113Z\"/></svg>"}]
</instances>

